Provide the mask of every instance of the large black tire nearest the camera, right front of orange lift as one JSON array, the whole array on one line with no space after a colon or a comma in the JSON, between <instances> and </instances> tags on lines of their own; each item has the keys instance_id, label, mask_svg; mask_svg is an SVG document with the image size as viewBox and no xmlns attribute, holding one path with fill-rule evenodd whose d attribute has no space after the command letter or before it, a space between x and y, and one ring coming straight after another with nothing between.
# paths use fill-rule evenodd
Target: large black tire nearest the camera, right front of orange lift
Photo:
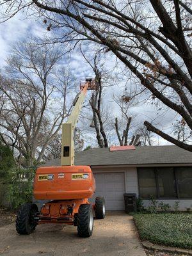
<instances>
[{"instance_id":1,"label":"large black tire nearest the camera, right front of orange lift","mask_svg":"<svg viewBox=\"0 0 192 256\"><path fill-rule=\"evenodd\" d=\"M90 229L90 221L93 221L92 205L81 204L77 215L77 233L80 237L92 236L93 225Z\"/></svg>"}]
</instances>

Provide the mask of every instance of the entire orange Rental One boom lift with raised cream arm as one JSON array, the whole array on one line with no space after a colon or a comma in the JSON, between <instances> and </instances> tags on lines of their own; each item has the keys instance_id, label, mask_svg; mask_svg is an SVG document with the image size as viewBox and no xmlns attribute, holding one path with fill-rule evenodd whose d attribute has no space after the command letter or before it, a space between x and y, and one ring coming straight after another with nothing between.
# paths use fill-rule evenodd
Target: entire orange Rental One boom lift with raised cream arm
<instances>
[{"instance_id":1,"label":"entire orange Rental One boom lift with raised cream arm","mask_svg":"<svg viewBox=\"0 0 192 256\"><path fill-rule=\"evenodd\" d=\"M74 166L74 132L87 90L97 90L95 79L80 84L81 92L67 123L62 125L61 166L40 167L36 170L33 195L37 200L49 200L38 212L36 204L24 204L17 214L19 234L30 234L42 223L65 223L77 226L81 237L92 236L93 216L104 218L104 198L88 198L95 193L95 179L90 166Z\"/></svg>"}]
</instances>

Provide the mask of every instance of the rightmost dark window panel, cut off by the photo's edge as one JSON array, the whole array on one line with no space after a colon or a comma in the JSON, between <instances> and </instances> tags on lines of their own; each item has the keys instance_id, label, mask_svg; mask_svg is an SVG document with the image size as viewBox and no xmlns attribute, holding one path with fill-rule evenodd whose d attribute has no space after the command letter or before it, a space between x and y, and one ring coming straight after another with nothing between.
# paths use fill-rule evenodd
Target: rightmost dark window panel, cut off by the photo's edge
<instances>
[{"instance_id":1,"label":"rightmost dark window panel, cut off by the photo's edge","mask_svg":"<svg viewBox=\"0 0 192 256\"><path fill-rule=\"evenodd\" d=\"M192 198L192 167L177 167L179 198Z\"/></svg>"}]
</instances>

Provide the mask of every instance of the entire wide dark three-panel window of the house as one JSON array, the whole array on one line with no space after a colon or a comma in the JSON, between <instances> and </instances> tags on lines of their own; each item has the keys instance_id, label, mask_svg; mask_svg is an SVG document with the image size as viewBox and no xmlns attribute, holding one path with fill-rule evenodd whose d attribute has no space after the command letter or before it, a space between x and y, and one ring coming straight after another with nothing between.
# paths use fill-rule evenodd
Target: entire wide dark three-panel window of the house
<instances>
[{"instance_id":1,"label":"entire wide dark three-panel window of the house","mask_svg":"<svg viewBox=\"0 0 192 256\"><path fill-rule=\"evenodd\" d=\"M141 198L192 198L192 167L138 168Z\"/></svg>"}]
</instances>

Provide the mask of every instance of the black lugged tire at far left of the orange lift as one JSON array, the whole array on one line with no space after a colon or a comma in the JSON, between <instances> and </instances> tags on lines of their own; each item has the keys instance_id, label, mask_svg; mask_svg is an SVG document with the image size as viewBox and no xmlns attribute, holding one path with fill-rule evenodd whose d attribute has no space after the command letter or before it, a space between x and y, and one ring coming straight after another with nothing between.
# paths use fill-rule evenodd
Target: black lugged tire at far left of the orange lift
<instances>
[{"instance_id":1,"label":"black lugged tire at far left of the orange lift","mask_svg":"<svg viewBox=\"0 0 192 256\"><path fill-rule=\"evenodd\" d=\"M37 223L33 221L33 216L38 212L36 204L23 204L21 205L19 212L17 212L16 230L20 235L29 235Z\"/></svg>"}]
</instances>

